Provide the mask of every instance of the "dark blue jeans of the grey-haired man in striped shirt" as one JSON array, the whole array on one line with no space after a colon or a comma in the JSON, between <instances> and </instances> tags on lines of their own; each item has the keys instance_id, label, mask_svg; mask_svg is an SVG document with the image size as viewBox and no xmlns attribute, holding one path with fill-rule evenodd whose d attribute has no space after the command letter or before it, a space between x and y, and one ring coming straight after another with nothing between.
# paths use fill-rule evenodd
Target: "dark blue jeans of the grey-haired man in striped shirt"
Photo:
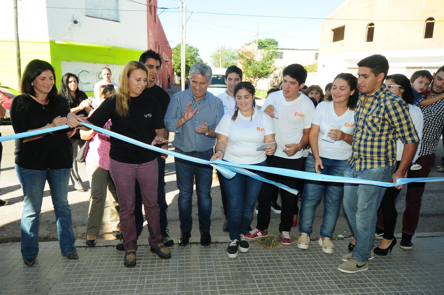
<instances>
[{"instance_id":1,"label":"dark blue jeans of the grey-haired man in striped shirt","mask_svg":"<svg viewBox=\"0 0 444 295\"><path fill-rule=\"evenodd\" d=\"M205 152L190 152L186 153L178 148L175 149L177 153L182 153L191 157L209 161L213 156L213 149ZM193 180L196 179L196 194L198 204L199 216L199 231L209 232L211 225L211 183L213 181L213 167L210 165L202 165L194 162L174 159L176 166L176 181L179 189L178 208L180 230L182 232L191 232L193 228L193 218L191 211L193 208Z\"/></svg>"}]
</instances>

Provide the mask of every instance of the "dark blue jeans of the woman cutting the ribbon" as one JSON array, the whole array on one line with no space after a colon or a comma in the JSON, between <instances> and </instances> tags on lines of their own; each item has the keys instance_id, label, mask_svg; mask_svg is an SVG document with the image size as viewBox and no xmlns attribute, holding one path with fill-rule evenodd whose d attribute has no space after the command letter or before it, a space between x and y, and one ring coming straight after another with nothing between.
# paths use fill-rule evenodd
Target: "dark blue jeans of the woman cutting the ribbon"
<instances>
[{"instance_id":1,"label":"dark blue jeans of the woman cutting the ribbon","mask_svg":"<svg viewBox=\"0 0 444 295\"><path fill-rule=\"evenodd\" d=\"M254 165L266 166L267 161ZM258 173L257 170L254 170L254 173L265 177L264 173ZM239 238L240 234L246 235L251 218L253 218L254 205L256 205L264 183L239 173L236 173L231 179L222 176L221 180L228 205L227 219L230 227L230 240L235 240Z\"/></svg>"}]
</instances>

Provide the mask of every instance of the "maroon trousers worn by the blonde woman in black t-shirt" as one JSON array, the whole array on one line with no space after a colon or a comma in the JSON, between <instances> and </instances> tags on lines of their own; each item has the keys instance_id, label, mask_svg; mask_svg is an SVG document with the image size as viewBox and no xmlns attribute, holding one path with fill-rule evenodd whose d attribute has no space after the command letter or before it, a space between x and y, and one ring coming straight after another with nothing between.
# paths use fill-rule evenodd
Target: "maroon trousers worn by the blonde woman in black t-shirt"
<instances>
[{"instance_id":1,"label":"maroon trousers worn by the blonde woman in black t-shirt","mask_svg":"<svg viewBox=\"0 0 444 295\"><path fill-rule=\"evenodd\" d=\"M160 235L159 205L157 204L157 159L143 164L127 164L110 159L110 173L115 183L120 206L120 230L125 240L125 250L137 249L134 218L135 183L139 181L142 203L148 221L148 242L155 247L162 240Z\"/></svg>"}]
</instances>

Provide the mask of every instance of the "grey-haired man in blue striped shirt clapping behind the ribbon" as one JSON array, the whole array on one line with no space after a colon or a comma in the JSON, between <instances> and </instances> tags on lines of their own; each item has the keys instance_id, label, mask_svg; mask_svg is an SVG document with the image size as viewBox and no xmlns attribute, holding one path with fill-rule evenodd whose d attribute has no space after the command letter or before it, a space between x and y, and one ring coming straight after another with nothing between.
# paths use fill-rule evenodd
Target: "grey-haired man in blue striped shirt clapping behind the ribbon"
<instances>
[{"instance_id":1,"label":"grey-haired man in blue striped shirt clapping behind the ribbon","mask_svg":"<svg viewBox=\"0 0 444 295\"><path fill-rule=\"evenodd\" d=\"M210 160L213 156L217 124L224 114L222 101L206 91L212 78L211 67L195 63L190 68L190 89L178 92L171 98L165 115L165 128L174 132L175 151L191 157ZM211 241L211 196L213 168L175 158L176 180L179 189L178 208L180 231L178 244L188 244L193 226L191 217L193 179L196 180L198 198L200 243Z\"/></svg>"}]
</instances>

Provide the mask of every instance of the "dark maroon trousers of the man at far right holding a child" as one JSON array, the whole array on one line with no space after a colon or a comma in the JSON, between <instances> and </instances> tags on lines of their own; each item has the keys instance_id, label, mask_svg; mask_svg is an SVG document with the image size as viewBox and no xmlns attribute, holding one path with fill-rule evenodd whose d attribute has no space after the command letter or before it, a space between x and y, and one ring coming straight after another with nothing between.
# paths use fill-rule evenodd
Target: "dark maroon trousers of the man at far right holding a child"
<instances>
[{"instance_id":1,"label":"dark maroon trousers of the man at far right holding a child","mask_svg":"<svg viewBox=\"0 0 444 295\"><path fill-rule=\"evenodd\" d=\"M408 178L428 177L428 173L435 165L435 154L420 156L416 164L422 166L419 170L408 170ZM407 203L402 217L402 232L414 235L418 227L419 211L421 209L421 197L424 193L425 182L412 182L407 185L405 202Z\"/></svg>"}]
</instances>

